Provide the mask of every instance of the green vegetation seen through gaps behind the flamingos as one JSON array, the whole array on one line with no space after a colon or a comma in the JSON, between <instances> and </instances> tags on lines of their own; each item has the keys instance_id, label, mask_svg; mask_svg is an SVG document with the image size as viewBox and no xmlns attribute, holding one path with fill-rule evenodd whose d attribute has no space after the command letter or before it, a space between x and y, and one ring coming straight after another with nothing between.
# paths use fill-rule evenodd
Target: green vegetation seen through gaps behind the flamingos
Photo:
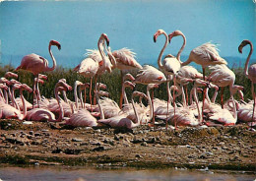
<instances>
[{"instance_id":1,"label":"green vegetation seen through gaps behind the flamingos","mask_svg":"<svg viewBox=\"0 0 256 181\"><path fill-rule=\"evenodd\" d=\"M4 74L7 71L14 71L14 67L7 65L7 66L0 66L0 77L3 77ZM248 99L251 99L251 82L249 79L247 79L243 74L243 69L236 68L232 69L232 71L236 75L235 85L240 85L244 87L244 99L247 101ZM133 71L131 72L132 75L136 76L137 72ZM19 78L18 81L21 83L25 83L29 85L32 88L33 83L33 76L32 73L26 72L26 71L19 71L18 72ZM55 84L58 82L59 79L65 78L67 80L67 83L74 87L74 83L76 80L79 80L83 83L90 83L89 78L84 78L80 75L78 75L76 72L74 72L72 69L64 69L62 67L56 68L53 72L45 73L45 75L48 76L48 80L44 82L43 85L39 86L40 93L44 95L45 97L53 97L53 89ZM104 83L107 86L107 91L109 92L109 97L115 100L116 102L119 101L119 94L121 91L121 76L119 70L113 70L111 74L105 73L103 76L100 77L99 82ZM94 88L94 84L93 84ZM188 92L191 90L192 85L190 84L188 86ZM135 88L136 91L146 91L146 86L144 85L136 85ZM128 97L131 95L131 90L126 90ZM89 91L87 91L89 93ZM209 91L210 96L213 95L214 90ZM32 102L32 93L25 92L25 97ZM71 100L74 100L74 91L67 92L68 98ZM154 95L160 99L167 100L167 93L166 93L166 84L161 84L160 88L158 90L155 90ZM202 98L202 94L199 93L200 98ZM227 88L224 89L224 99L229 98L230 94ZM238 98L238 95L235 94L235 98ZM180 101L181 97L178 97L178 100ZM221 98L220 95L217 97L217 101L220 102ZM87 96L87 101L89 102L89 96Z\"/></svg>"}]
</instances>

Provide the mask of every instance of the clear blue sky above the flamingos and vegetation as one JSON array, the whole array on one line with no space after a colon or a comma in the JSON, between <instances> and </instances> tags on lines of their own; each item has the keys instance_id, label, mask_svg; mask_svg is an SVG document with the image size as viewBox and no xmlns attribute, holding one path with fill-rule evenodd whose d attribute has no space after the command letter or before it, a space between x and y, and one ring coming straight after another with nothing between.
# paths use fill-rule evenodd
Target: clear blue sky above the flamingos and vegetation
<instances>
[{"instance_id":1,"label":"clear blue sky above the flamingos and vegetation","mask_svg":"<svg viewBox=\"0 0 256 181\"><path fill-rule=\"evenodd\" d=\"M252 0L4 1L0 3L1 63L11 60L18 66L30 53L50 60L48 42L56 39L62 45L61 51L53 49L57 63L74 67L105 32L112 50L128 47L141 64L156 64L165 40L160 36L154 43L153 34L159 29L186 35L183 58L212 40L220 44L221 56L243 62L249 48L240 55L237 47L243 39L256 42L255 20ZM173 38L165 53L175 55L181 44L181 37ZM255 52L252 58L255 61Z\"/></svg>"}]
</instances>

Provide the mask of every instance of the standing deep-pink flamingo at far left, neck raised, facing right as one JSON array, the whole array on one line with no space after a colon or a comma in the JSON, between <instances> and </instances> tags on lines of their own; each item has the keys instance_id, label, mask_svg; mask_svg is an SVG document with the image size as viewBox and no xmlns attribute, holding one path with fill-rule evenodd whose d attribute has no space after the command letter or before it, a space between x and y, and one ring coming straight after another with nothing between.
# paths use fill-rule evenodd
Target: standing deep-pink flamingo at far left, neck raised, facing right
<instances>
[{"instance_id":1,"label":"standing deep-pink flamingo at far left, neck raised, facing right","mask_svg":"<svg viewBox=\"0 0 256 181\"><path fill-rule=\"evenodd\" d=\"M38 74L41 72L53 71L56 68L57 64L56 64L56 60L51 52L52 45L57 46L59 50L61 49L61 45L58 41L56 41L56 40L49 41L48 51L49 51L49 54L50 54L52 62L53 62L52 67L48 66L48 60L46 60L45 58L43 58L37 54L32 53L32 54L29 54L29 55L26 55L25 57L23 57L21 65L18 66L15 69L15 71L23 69L23 70L32 72L33 76L37 77L37 78L38 78ZM33 99L34 99L34 97L35 97L34 89L35 89L35 85L36 85L35 81L33 82L33 85L34 85L33 86Z\"/></svg>"}]
</instances>

